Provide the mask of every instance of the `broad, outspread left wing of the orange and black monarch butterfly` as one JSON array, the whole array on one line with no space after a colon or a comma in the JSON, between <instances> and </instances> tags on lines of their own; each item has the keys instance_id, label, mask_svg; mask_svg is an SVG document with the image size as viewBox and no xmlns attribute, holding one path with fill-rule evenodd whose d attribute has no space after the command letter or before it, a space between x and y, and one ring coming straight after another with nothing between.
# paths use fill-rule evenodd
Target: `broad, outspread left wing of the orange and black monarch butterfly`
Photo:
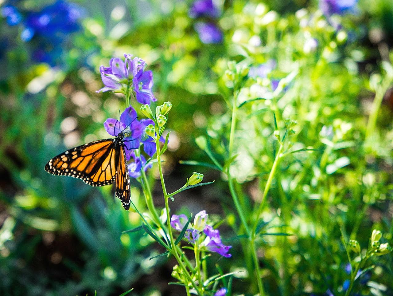
<instances>
[{"instance_id":1,"label":"broad, outspread left wing of the orange and black monarch butterfly","mask_svg":"<svg viewBox=\"0 0 393 296\"><path fill-rule=\"evenodd\" d=\"M116 154L113 139L98 140L53 157L45 170L53 175L82 179L92 186L109 185L116 178Z\"/></svg>"}]
</instances>

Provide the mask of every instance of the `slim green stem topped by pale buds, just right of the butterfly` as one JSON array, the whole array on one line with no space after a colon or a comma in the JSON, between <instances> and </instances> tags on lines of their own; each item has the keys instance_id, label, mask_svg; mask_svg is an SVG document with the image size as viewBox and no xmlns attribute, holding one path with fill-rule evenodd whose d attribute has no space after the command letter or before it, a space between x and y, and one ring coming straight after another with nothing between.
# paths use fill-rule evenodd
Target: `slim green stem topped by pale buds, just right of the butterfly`
<instances>
[{"instance_id":1,"label":"slim green stem topped by pale buds, just right of the butterfly","mask_svg":"<svg viewBox=\"0 0 393 296\"><path fill-rule=\"evenodd\" d=\"M162 186L162 192L164 194L164 201L165 201L165 211L167 213L167 227L168 227L168 232L169 232L169 240L171 241L171 247L172 247L172 252L174 257L176 258L177 262L179 263L180 268L184 271L185 277L191 283L191 285L194 287L198 295L202 295L202 293L199 291L198 287L195 285L193 280L191 279L190 274L187 271L187 268L185 268L185 265L183 261L180 259L178 255L178 249L174 243L173 239L173 233L172 233L172 227L171 227L171 216L169 215L169 204L168 204L168 193L167 189L165 187L165 182L164 182L164 176L162 173L162 163L161 163L161 155L160 155L160 137L159 137L159 130L158 130L158 125L155 125L155 130L156 130L156 135L155 141L156 141L156 149L157 149L157 161L158 161L158 171L160 172L160 180L161 180L161 186Z\"/></svg>"}]
</instances>

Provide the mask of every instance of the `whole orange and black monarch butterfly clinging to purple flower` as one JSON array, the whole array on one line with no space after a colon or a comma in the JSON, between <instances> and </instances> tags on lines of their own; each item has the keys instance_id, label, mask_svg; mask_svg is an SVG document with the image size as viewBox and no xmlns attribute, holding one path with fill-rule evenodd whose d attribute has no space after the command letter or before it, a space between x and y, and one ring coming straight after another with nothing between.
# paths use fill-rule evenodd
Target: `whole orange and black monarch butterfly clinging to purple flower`
<instances>
[{"instance_id":1,"label":"whole orange and black monarch butterfly clinging to purple flower","mask_svg":"<svg viewBox=\"0 0 393 296\"><path fill-rule=\"evenodd\" d=\"M82 179L91 186L115 181L115 196L123 207L130 208L130 177L124 150L124 130L114 139L103 139L77 146L53 157L45 170L53 175Z\"/></svg>"}]
</instances>

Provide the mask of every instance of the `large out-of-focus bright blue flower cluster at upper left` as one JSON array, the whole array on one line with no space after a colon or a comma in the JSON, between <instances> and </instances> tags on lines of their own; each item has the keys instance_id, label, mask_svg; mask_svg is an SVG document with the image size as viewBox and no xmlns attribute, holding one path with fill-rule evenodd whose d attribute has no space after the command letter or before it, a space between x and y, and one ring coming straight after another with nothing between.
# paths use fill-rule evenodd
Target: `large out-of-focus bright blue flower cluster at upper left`
<instances>
[{"instance_id":1,"label":"large out-of-focus bright blue flower cluster at upper left","mask_svg":"<svg viewBox=\"0 0 393 296\"><path fill-rule=\"evenodd\" d=\"M79 19L84 11L76 4L58 0L44 7L39 12L30 13L24 21L25 29L22 40L29 41L34 35L46 38L67 37L69 33L78 31L81 26Z\"/></svg>"}]
</instances>

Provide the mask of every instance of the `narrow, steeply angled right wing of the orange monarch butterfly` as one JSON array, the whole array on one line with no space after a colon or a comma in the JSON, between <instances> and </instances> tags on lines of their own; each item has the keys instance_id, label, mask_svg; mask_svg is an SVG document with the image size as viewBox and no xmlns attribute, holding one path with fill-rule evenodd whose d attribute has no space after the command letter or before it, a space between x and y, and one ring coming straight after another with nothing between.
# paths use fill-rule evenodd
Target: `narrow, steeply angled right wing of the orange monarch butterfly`
<instances>
[{"instance_id":1,"label":"narrow, steeply angled right wing of the orange monarch butterfly","mask_svg":"<svg viewBox=\"0 0 393 296\"><path fill-rule=\"evenodd\" d=\"M116 167L116 188L115 195L120 198L123 207L128 210L130 208L130 176L128 174L127 158L125 156L124 146L120 146Z\"/></svg>"}]
</instances>

